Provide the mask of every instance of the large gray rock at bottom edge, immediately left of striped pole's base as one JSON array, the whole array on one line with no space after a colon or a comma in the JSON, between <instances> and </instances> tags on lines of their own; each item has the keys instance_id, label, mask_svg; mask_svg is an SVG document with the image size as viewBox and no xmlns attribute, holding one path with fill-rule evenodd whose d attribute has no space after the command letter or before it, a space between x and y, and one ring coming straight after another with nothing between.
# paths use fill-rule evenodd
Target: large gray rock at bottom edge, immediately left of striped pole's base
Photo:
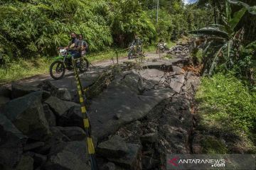
<instances>
[{"instance_id":1,"label":"large gray rock at bottom edge, immediately left of striped pole's base","mask_svg":"<svg viewBox=\"0 0 256 170\"><path fill-rule=\"evenodd\" d=\"M62 142L50 149L47 170L90 170L86 142Z\"/></svg>"}]
</instances>

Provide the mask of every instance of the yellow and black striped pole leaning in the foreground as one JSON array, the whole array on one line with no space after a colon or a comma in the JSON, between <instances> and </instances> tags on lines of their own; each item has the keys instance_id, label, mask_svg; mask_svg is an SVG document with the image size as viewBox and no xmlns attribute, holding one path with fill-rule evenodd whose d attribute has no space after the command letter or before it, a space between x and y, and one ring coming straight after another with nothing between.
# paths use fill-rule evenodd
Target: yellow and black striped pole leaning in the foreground
<instances>
[{"instance_id":1,"label":"yellow and black striped pole leaning in the foreground","mask_svg":"<svg viewBox=\"0 0 256 170\"><path fill-rule=\"evenodd\" d=\"M90 157L90 162L91 162L91 167L92 170L97 170L97 162L95 158L95 147L92 142L92 133L91 133L91 128L90 128L90 121L87 116L87 111L85 108L85 93L82 90L82 84L80 81L80 77L78 74L78 69L76 67L76 60L72 60L73 62L73 67L74 67L74 73L75 73L75 81L78 87L78 96L79 96L79 101L80 101L80 106L81 106L81 112L82 112L82 118L83 118L83 124L85 128L85 133L87 136L87 149L88 149L88 154Z\"/></svg>"}]
</instances>

